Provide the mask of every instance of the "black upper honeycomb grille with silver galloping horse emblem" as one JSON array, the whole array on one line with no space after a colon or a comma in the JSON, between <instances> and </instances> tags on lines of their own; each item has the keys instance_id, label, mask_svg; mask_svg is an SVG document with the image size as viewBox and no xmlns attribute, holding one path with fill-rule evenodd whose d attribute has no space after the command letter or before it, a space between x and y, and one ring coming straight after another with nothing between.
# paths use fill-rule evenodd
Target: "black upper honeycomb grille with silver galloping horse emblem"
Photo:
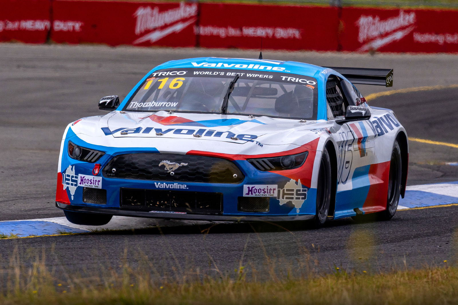
<instances>
[{"instance_id":1,"label":"black upper honeycomb grille with silver galloping horse emblem","mask_svg":"<svg viewBox=\"0 0 458 305\"><path fill-rule=\"evenodd\" d=\"M229 160L171 153L119 155L104 167L103 174L120 179L233 184L245 178Z\"/></svg>"}]
</instances>

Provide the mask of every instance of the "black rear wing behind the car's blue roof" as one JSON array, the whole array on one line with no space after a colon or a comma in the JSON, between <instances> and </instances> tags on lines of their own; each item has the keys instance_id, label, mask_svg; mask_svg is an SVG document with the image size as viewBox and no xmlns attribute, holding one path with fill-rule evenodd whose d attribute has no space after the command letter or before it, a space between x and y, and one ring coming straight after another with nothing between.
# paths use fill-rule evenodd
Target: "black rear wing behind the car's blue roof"
<instances>
[{"instance_id":1,"label":"black rear wing behind the car's blue roof","mask_svg":"<svg viewBox=\"0 0 458 305\"><path fill-rule=\"evenodd\" d=\"M393 87L393 69L372 69L352 67L324 68L330 68L334 71L339 72L354 84Z\"/></svg>"}]
</instances>

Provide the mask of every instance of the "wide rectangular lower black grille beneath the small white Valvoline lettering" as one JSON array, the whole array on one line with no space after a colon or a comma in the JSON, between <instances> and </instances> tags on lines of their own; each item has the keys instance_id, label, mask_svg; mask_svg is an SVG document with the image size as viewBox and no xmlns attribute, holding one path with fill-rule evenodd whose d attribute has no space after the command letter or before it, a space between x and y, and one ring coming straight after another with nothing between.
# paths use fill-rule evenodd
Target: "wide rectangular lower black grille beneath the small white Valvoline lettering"
<instances>
[{"instance_id":1,"label":"wide rectangular lower black grille beneath the small white Valvoline lettering","mask_svg":"<svg viewBox=\"0 0 458 305\"><path fill-rule=\"evenodd\" d=\"M121 188L121 208L164 212L221 213L223 194Z\"/></svg>"}]
</instances>

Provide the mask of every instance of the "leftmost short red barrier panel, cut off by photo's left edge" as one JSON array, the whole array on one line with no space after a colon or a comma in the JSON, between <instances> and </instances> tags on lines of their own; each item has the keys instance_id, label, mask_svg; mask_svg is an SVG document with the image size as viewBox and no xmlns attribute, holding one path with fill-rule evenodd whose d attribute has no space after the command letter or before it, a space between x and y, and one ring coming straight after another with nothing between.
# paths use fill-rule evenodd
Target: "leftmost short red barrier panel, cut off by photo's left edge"
<instances>
[{"instance_id":1,"label":"leftmost short red barrier panel, cut off by photo's left edge","mask_svg":"<svg viewBox=\"0 0 458 305\"><path fill-rule=\"evenodd\" d=\"M0 0L0 41L43 44L48 35L50 0Z\"/></svg>"}]
</instances>

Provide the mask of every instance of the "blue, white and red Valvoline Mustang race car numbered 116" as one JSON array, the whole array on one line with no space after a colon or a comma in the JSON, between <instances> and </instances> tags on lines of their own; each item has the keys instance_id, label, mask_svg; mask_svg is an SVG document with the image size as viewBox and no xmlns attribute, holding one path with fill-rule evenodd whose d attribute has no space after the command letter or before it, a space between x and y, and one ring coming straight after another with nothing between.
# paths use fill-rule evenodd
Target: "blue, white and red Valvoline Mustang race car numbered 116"
<instances>
[{"instance_id":1,"label":"blue, white and red Valvoline Mustang race car numbered 116","mask_svg":"<svg viewBox=\"0 0 458 305\"><path fill-rule=\"evenodd\" d=\"M408 142L392 110L352 84L393 70L192 58L158 65L110 111L64 132L56 206L76 224L113 215L210 221L390 219Z\"/></svg>"}]
</instances>

